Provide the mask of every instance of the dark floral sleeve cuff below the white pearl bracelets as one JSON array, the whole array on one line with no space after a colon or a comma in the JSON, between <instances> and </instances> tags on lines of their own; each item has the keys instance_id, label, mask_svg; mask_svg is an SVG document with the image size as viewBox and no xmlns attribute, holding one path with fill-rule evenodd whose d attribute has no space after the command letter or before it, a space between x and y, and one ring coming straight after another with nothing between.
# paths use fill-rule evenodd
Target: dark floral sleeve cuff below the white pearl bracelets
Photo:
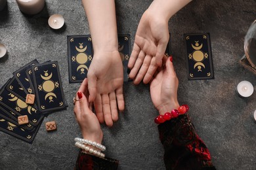
<instances>
[{"instance_id":1,"label":"dark floral sleeve cuff below the white pearl bracelets","mask_svg":"<svg viewBox=\"0 0 256 170\"><path fill-rule=\"evenodd\" d=\"M98 158L96 156L79 152L75 163L75 169L79 170L114 170L118 167L118 161L112 158Z\"/></svg>"}]
</instances>

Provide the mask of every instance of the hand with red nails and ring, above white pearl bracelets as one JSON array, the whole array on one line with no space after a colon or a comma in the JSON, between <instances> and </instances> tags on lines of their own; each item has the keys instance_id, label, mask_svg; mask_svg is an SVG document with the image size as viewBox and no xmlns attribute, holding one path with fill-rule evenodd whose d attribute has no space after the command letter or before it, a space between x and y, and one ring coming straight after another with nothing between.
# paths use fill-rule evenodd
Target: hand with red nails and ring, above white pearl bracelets
<instances>
[{"instance_id":1,"label":"hand with red nails and ring, above white pearl bracelets","mask_svg":"<svg viewBox=\"0 0 256 170\"><path fill-rule=\"evenodd\" d=\"M92 108L87 101L88 95L88 81L87 78L85 78L75 96L75 118L81 129L83 139L88 139L90 141L95 141L96 143L101 144L103 133L100 129L98 118L92 112Z\"/></svg>"}]
</instances>

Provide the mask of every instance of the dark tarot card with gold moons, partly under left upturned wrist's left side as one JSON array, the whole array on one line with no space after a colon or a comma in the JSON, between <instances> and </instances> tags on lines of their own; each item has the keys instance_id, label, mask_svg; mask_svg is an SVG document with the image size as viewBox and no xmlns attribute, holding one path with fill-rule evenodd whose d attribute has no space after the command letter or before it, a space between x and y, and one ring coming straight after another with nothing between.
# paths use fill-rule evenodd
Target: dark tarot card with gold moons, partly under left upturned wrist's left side
<instances>
[{"instance_id":1,"label":"dark tarot card with gold moons, partly under left upturned wrist's left side","mask_svg":"<svg viewBox=\"0 0 256 170\"><path fill-rule=\"evenodd\" d=\"M68 36L69 82L83 82L93 59L91 35Z\"/></svg>"}]
</instances>

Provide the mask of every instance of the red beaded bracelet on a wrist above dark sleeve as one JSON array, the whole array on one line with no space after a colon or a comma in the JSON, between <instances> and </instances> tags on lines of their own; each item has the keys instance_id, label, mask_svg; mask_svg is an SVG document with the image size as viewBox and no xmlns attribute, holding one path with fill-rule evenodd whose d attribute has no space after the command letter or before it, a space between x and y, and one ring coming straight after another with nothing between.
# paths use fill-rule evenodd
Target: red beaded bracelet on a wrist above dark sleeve
<instances>
[{"instance_id":1,"label":"red beaded bracelet on a wrist above dark sleeve","mask_svg":"<svg viewBox=\"0 0 256 170\"><path fill-rule=\"evenodd\" d=\"M182 105L177 109L171 110L171 112L165 112L163 115L159 115L155 118L156 124L162 124L166 120L171 120L171 118L177 118L181 114L185 114L188 111L188 105Z\"/></svg>"}]
</instances>

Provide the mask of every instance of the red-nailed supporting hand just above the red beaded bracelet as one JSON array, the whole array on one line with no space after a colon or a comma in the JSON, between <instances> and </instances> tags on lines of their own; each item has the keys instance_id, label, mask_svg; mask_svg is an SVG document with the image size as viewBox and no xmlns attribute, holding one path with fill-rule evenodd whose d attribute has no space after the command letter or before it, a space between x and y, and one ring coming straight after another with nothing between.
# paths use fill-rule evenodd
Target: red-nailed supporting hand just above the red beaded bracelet
<instances>
[{"instance_id":1,"label":"red-nailed supporting hand just above the red beaded bracelet","mask_svg":"<svg viewBox=\"0 0 256 170\"><path fill-rule=\"evenodd\" d=\"M177 99L179 80L173 68L171 58L163 59L163 61L166 61L165 65L158 69L152 82L150 82L151 99L161 115L179 107Z\"/></svg>"}]
</instances>

